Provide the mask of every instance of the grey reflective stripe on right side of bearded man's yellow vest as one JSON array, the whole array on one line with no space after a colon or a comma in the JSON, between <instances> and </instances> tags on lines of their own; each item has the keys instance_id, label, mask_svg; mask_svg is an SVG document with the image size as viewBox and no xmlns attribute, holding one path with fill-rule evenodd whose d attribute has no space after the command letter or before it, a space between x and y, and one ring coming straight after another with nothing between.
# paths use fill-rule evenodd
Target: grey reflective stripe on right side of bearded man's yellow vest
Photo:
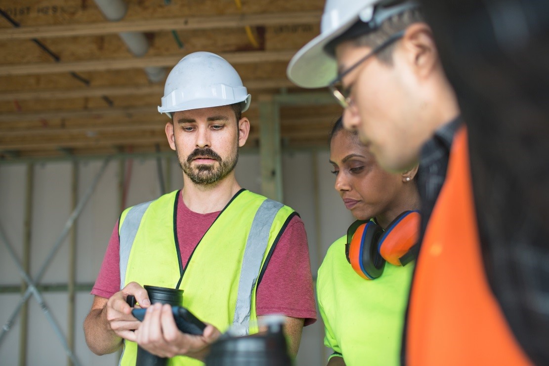
<instances>
[{"instance_id":1,"label":"grey reflective stripe on right side of bearded man's yellow vest","mask_svg":"<svg viewBox=\"0 0 549 366\"><path fill-rule=\"evenodd\" d=\"M254 221L251 223L242 258L237 304L233 319L234 330L243 335L249 333L251 296L267 250L271 226L275 221L276 214L283 206L280 202L266 199L255 213Z\"/></svg>"}]
</instances>

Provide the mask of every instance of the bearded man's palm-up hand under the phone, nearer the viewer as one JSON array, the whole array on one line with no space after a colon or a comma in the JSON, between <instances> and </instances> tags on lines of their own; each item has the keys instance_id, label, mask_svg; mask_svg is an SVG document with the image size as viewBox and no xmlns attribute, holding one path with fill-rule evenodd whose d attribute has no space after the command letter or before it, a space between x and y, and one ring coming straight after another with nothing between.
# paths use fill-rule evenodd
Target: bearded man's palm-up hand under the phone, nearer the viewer
<instances>
[{"instance_id":1,"label":"bearded man's palm-up hand under the phone, nearer the viewer","mask_svg":"<svg viewBox=\"0 0 549 366\"><path fill-rule=\"evenodd\" d=\"M202 335L182 333L175 324L170 305L159 303L147 309L143 323L135 332L137 344L160 357L184 355L204 361L210 344L221 335L207 324Z\"/></svg>"}]
</instances>

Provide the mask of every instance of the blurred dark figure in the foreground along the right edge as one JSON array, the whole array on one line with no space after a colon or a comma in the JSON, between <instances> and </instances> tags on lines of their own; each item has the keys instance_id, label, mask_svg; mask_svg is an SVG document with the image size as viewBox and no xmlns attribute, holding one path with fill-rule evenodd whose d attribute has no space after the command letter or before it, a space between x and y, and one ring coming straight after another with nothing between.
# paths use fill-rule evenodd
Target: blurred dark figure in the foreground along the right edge
<instances>
[{"instance_id":1,"label":"blurred dark figure in the foreground along the right edge","mask_svg":"<svg viewBox=\"0 0 549 366\"><path fill-rule=\"evenodd\" d=\"M549 2L423 5L468 127L490 288L531 361L549 364Z\"/></svg>"}]
</instances>

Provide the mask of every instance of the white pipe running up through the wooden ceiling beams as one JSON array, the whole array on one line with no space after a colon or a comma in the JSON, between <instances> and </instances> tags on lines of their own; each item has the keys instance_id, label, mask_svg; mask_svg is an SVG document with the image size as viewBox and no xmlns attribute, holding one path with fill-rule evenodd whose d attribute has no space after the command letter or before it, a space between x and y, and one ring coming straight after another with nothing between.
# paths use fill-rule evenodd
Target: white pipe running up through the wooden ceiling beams
<instances>
[{"instance_id":1,"label":"white pipe running up through the wooden ceiling beams","mask_svg":"<svg viewBox=\"0 0 549 366\"><path fill-rule=\"evenodd\" d=\"M110 21L119 21L126 15L128 10L124 0L94 0L103 16ZM118 33L126 47L136 57L144 56L149 50L149 41L141 32L121 32ZM156 83L164 80L164 67L148 66L145 67L145 74L150 82Z\"/></svg>"}]
</instances>

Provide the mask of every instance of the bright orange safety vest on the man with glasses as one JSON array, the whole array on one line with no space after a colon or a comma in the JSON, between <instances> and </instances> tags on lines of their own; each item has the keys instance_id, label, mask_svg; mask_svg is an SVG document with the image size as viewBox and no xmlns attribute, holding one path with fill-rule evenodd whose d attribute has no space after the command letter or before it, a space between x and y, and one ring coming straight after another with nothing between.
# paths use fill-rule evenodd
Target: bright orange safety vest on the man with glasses
<instances>
[{"instance_id":1,"label":"bright orange safety vest on the man with glasses","mask_svg":"<svg viewBox=\"0 0 549 366\"><path fill-rule=\"evenodd\" d=\"M406 333L410 366L531 364L486 279L473 202L462 127L416 263Z\"/></svg>"}]
</instances>

